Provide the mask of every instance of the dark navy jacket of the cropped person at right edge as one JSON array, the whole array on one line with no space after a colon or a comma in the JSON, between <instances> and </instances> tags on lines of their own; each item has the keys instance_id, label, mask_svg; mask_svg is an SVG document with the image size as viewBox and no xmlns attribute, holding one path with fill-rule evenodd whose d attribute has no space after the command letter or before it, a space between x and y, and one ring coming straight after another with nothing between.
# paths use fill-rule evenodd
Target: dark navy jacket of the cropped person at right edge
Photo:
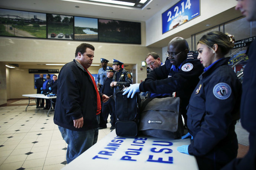
<instances>
[{"instance_id":1,"label":"dark navy jacket of the cropped person at right edge","mask_svg":"<svg viewBox=\"0 0 256 170\"><path fill-rule=\"evenodd\" d=\"M256 40L248 48L249 61L243 71L243 93L240 106L241 124L249 135L249 151L242 159L235 159L226 167L229 169L256 169Z\"/></svg>"}]
</instances>

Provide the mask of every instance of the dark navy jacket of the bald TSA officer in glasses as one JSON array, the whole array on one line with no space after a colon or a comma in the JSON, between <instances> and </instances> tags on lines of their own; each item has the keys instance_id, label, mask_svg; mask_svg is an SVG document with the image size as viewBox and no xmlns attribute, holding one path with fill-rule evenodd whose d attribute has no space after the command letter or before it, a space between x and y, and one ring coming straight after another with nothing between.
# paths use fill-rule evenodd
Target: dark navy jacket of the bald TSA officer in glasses
<instances>
[{"instance_id":1,"label":"dark navy jacket of the bald TSA officer in glasses","mask_svg":"<svg viewBox=\"0 0 256 170\"><path fill-rule=\"evenodd\" d=\"M197 59L198 54L190 51L187 59L181 63L177 70L172 69L169 59L165 64L153 69L145 81L140 84L140 92L173 93L181 99L181 113L186 113L191 93L196 87L199 76L203 72L203 65Z\"/></svg>"}]
</instances>

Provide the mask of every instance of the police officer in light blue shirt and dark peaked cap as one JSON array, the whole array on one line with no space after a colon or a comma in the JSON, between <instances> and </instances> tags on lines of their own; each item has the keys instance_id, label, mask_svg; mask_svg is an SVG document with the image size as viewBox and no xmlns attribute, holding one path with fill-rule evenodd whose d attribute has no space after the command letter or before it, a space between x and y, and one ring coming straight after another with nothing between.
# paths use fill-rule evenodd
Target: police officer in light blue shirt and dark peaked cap
<instances>
[{"instance_id":1,"label":"police officer in light blue shirt and dark peaked cap","mask_svg":"<svg viewBox=\"0 0 256 170\"><path fill-rule=\"evenodd\" d=\"M106 67L108 65L108 60L105 58L101 58L101 67L98 71L98 75L96 78L97 87L99 88L99 92L102 92L102 86L106 79Z\"/></svg>"}]
</instances>

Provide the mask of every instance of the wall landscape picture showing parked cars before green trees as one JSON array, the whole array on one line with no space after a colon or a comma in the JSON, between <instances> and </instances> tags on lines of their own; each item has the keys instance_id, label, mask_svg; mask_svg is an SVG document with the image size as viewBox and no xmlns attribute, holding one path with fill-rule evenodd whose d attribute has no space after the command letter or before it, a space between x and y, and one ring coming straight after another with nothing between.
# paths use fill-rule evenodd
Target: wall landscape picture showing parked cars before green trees
<instances>
[{"instance_id":1,"label":"wall landscape picture showing parked cars before green trees","mask_svg":"<svg viewBox=\"0 0 256 170\"><path fill-rule=\"evenodd\" d=\"M73 16L47 14L47 38L73 40Z\"/></svg>"}]
</instances>

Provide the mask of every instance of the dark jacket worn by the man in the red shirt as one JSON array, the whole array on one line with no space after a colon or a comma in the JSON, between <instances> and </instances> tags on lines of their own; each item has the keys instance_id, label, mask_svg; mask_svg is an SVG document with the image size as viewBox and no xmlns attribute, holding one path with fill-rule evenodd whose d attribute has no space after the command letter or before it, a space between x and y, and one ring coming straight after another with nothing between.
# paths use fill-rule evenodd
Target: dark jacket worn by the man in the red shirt
<instances>
[{"instance_id":1,"label":"dark jacket worn by the man in the red shirt","mask_svg":"<svg viewBox=\"0 0 256 170\"><path fill-rule=\"evenodd\" d=\"M75 59L60 70L57 93L53 117L56 125L77 131L99 127L96 119L97 93L95 87L89 73ZM100 96L102 98L102 94ZM82 117L83 127L75 128L73 120Z\"/></svg>"}]
</instances>

